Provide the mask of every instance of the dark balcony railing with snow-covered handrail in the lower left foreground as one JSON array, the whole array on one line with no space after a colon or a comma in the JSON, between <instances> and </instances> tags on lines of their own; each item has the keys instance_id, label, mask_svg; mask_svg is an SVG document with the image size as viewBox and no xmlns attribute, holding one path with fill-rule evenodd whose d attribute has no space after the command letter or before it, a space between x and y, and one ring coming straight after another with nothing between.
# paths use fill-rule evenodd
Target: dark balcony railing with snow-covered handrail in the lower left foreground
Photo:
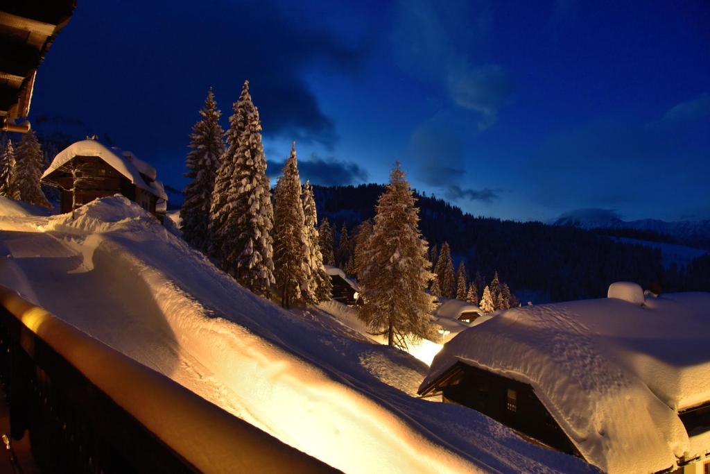
<instances>
[{"instance_id":1,"label":"dark balcony railing with snow-covered handrail in the lower left foreground","mask_svg":"<svg viewBox=\"0 0 710 474\"><path fill-rule=\"evenodd\" d=\"M335 472L2 286L0 379L46 472Z\"/></svg>"}]
</instances>

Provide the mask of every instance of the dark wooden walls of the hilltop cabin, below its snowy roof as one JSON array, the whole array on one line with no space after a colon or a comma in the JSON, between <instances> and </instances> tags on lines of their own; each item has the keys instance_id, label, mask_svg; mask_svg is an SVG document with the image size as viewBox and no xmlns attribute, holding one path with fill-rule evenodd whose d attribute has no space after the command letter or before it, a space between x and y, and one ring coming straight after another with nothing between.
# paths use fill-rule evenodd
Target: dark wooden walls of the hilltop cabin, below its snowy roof
<instances>
[{"instance_id":1,"label":"dark wooden walls of the hilltop cabin, below its snowy roof","mask_svg":"<svg viewBox=\"0 0 710 474\"><path fill-rule=\"evenodd\" d=\"M141 178L146 183L153 181L143 173ZM43 181L60 189L62 213L71 212L94 199L120 193L141 205L141 208L156 214L157 196L138 188L129 178L97 156L75 156ZM76 199L72 189L75 190Z\"/></svg>"}]
</instances>

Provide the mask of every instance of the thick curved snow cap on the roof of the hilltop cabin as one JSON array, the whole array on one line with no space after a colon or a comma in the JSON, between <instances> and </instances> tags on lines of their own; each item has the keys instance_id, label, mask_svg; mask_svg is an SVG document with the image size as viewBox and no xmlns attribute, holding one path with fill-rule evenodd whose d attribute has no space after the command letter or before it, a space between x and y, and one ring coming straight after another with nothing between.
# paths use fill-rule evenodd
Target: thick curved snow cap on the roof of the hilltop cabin
<instances>
[{"instance_id":1,"label":"thick curved snow cap on the roof of the hilltop cabin","mask_svg":"<svg viewBox=\"0 0 710 474\"><path fill-rule=\"evenodd\" d=\"M111 168L131 180L131 183L138 188L146 190L160 199L168 200L168 195L165 194L163 184L160 181L146 183L141 176L141 173L143 173L148 178L155 180L156 173L153 166L136 158L130 151L124 152L116 148L109 149L97 140L82 140L67 146L55 156L49 168L43 173L42 178L49 176L75 156L97 156Z\"/></svg>"}]
</instances>

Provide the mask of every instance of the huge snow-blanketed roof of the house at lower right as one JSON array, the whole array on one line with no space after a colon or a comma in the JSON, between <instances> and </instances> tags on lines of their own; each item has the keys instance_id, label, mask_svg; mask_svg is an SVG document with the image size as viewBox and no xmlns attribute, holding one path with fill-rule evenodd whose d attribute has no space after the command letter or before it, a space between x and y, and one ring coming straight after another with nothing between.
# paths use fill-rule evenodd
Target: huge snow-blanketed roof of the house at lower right
<instances>
[{"instance_id":1,"label":"huge snow-blanketed roof of the house at lower right","mask_svg":"<svg viewBox=\"0 0 710 474\"><path fill-rule=\"evenodd\" d=\"M420 393L457 362L530 384L584 458L611 473L709 451L677 412L710 401L710 293L638 304L621 285L610 296L514 308L465 330L435 357Z\"/></svg>"}]
</instances>

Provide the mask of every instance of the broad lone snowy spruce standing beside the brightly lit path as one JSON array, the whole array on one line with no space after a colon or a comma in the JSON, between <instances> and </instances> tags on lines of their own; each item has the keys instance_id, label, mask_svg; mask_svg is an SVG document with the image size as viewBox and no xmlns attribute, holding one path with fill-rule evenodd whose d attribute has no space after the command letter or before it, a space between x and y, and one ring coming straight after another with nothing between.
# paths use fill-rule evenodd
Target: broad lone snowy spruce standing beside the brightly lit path
<instances>
[{"instance_id":1,"label":"broad lone snowy spruce standing beside the brightly lit path","mask_svg":"<svg viewBox=\"0 0 710 474\"><path fill-rule=\"evenodd\" d=\"M434 275L419 230L419 209L399 163L378 198L364 257L359 281L364 303L358 314L369 330L387 335L388 344L399 348L407 347L407 336L432 337L432 298L425 289Z\"/></svg>"}]
</instances>

